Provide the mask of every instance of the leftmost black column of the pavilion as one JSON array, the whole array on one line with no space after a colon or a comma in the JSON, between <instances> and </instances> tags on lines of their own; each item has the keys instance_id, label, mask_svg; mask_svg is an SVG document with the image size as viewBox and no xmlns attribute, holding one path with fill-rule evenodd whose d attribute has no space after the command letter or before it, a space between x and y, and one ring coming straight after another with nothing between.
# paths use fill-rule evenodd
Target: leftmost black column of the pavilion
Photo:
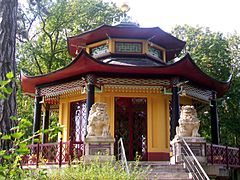
<instances>
[{"instance_id":1,"label":"leftmost black column of the pavilion","mask_svg":"<svg viewBox=\"0 0 240 180\"><path fill-rule=\"evenodd\" d=\"M33 134L35 134L38 130L40 130L40 124L41 124L41 104L40 101L42 100L41 96L35 97L35 106L34 106L34 119L33 119ZM32 143L34 143L34 138L32 140Z\"/></svg>"}]
</instances>

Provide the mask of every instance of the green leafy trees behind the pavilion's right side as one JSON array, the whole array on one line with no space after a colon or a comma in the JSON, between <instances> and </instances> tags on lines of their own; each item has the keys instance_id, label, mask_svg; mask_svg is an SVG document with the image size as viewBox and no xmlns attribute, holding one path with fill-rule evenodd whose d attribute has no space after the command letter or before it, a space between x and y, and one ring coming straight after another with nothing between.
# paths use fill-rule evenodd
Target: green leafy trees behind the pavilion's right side
<instances>
[{"instance_id":1,"label":"green leafy trees behind the pavilion's right side","mask_svg":"<svg viewBox=\"0 0 240 180\"><path fill-rule=\"evenodd\" d=\"M226 81L232 74L230 90L218 100L221 144L240 144L240 36L229 37L209 28L176 26L173 34L186 40L185 52L190 52L195 62L208 75ZM208 105L200 112L201 133L210 140ZM205 112L205 113L203 113Z\"/></svg>"}]
</instances>

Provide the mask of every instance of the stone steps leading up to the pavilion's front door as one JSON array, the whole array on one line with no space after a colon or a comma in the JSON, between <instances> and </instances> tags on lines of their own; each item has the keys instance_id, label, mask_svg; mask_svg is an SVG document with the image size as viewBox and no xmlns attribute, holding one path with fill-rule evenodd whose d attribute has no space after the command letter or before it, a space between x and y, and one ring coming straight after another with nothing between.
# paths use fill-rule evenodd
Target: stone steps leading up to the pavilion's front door
<instances>
[{"instance_id":1,"label":"stone steps leading up to the pavilion's front door","mask_svg":"<svg viewBox=\"0 0 240 180\"><path fill-rule=\"evenodd\" d=\"M131 164L131 162L129 163ZM192 179L182 165L170 165L168 161L142 161L139 167L146 170L146 179L187 180Z\"/></svg>"}]
</instances>

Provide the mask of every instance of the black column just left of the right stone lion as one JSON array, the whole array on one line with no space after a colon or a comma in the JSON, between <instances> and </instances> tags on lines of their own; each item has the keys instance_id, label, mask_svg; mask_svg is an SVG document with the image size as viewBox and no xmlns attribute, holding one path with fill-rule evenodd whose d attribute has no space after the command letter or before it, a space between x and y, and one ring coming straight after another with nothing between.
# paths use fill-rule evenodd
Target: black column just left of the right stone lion
<instances>
[{"instance_id":1,"label":"black column just left of the right stone lion","mask_svg":"<svg viewBox=\"0 0 240 180\"><path fill-rule=\"evenodd\" d=\"M177 87L178 81L174 81L173 87L172 87L172 118L170 122L170 139L172 140L174 136L176 135L176 127L179 125L178 120L180 118L180 110L179 110L179 88Z\"/></svg>"}]
</instances>

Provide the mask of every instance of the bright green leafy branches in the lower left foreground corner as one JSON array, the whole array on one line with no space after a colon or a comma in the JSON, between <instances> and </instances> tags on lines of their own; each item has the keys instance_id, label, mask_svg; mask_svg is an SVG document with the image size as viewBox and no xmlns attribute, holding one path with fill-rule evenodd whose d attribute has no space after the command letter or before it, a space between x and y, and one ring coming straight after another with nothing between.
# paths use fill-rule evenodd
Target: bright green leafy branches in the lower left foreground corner
<instances>
[{"instance_id":1,"label":"bright green leafy branches in the lower left foreground corner","mask_svg":"<svg viewBox=\"0 0 240 180\"><path fill-rule=\"evenodd\" d=\"M12 118L13 121L17 121L17 126L11 129L12 133L7 135L2 135L0 138L2 140L7 140L12 143L12 148L8 150L0 151L0 179L26 179L29 177L31 171L23 170L21 168L22 157L30 153L27 145L30 143L32 138L40 136L43 131L38 131L33 136L26 137L26 133L29 128L32 128L32 123L26 119L16 119ZM44 133L61 131L61 126L56 126L54 128L45 130ZM36 173L37 172L37 173ZM41 171L36 171L34 177L43 176Z\"/></svg>"}]
</instances>

